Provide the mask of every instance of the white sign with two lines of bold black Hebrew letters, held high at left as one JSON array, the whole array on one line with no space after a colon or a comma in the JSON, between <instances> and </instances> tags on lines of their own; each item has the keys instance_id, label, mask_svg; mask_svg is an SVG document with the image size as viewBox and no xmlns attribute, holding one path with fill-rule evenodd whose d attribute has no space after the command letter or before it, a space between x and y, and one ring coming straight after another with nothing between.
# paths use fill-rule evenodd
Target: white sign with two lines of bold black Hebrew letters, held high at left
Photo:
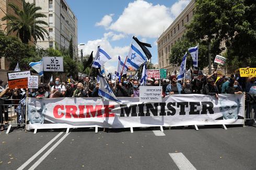
<instances>
[{"instance_id":1,"label":"white sign with two lines of bold black Hebrew letters, held high at left","mask_svg":"<svg viewBox=\"0 0 256 170\"><path fill-rule=\"evenodd\" d=\"M63 71L63 57L43 57L44 71Z\"/></svg>"}]
</instances>

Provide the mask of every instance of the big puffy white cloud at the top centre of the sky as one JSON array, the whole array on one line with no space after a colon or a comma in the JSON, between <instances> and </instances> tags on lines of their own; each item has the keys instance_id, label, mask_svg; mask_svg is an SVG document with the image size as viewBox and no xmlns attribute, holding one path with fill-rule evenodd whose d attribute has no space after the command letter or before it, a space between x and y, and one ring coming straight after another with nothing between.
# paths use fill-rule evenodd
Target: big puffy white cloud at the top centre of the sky
<instances>
[{"instance_id":1,"label":"big puffy white cloud at the top centre of the sky","mask_svg":"<svg viewBox=\"0 0 256 170\"><path fill-rule=\"evenodd\" d=\"M148 38L157 38L158 33L173 21L170 8L138 0L129 3L109 29Z\"/></svg>"}]
</instances>

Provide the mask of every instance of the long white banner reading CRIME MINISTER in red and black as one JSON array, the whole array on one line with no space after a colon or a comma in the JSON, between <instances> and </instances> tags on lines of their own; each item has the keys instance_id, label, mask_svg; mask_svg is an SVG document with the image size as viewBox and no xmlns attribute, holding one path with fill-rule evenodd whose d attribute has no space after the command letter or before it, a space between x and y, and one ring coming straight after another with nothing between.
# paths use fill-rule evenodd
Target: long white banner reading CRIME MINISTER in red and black
<instances>
[{"instance_id":1,"label":"long white banner reading CRIME MINISTER in red and black","mask_svg":"<svg viewBox=\"0 0 256 170\"><path fill-rule=\"evenodd\" d=\"M243 124L245 94L174 94L162 102L118 98L28 99L30 129Z\"/></svg>"}]
</instances>

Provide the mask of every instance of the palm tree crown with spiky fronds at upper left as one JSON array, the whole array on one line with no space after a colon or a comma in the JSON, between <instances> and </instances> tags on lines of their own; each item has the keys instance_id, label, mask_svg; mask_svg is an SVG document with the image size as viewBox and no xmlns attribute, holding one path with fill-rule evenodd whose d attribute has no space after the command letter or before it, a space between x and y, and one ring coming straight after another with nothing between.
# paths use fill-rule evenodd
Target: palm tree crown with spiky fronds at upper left
<instances>
[{"instance_id":1,"label":"palm tree crown with spiky fronds at upper left","mask_svg":"<svg viewBox=\"0 0 256 170\"><path fill-rule=\"evenodd\" d=\"M34 3L26 3L25 0L22 0L22 4L23 9L21 10L17 5L13 3L9 4L9 6L14 9L16 16L6 15L2 18L2 21L9 20L6 24L6 29L8 28L7 34L11 31L17 31L17 37L21 39L22 43L26 44L31 40L31 36L34 40L44 40L45 34L49 35L49 33L42 27L42 25L48 26L48 23L38 19L46 17L44 14L37 13L37 11L42 8L36 6Z\"/></svg>"}]
</instances>

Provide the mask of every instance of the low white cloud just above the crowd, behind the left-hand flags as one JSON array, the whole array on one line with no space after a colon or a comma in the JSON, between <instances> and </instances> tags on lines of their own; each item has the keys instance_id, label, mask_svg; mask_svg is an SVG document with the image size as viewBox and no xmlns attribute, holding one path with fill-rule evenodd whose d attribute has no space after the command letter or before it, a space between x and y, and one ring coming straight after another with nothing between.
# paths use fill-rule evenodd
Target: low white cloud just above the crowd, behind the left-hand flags
<instances>
[{"instance_id":1,"label":"low white cloud just above the crowd, behind the left-hand flags","mask_svg":"<svg viewBox=\"0 0 256 170\"><path fill-rule=\"evenodd\" d=\"M108 37L111 33L104 34L106 37ZM109 41L106 39L106 37L98 40L92 40L85 43L85 45L80 46L78 45L78 50L83 49L84 55L89 55L91 51L94 51L94 57L97 52L97 47L100 45L101 48L106 51L112 59L109 60L105 64L105 69L110 70L110 72L114 72L117 70L117 64L118 64L118 56L120 55L121 59L124 61L125 56L128 54L130 46L114 46L112 47Z\"/></svg>"}]
</instances>

